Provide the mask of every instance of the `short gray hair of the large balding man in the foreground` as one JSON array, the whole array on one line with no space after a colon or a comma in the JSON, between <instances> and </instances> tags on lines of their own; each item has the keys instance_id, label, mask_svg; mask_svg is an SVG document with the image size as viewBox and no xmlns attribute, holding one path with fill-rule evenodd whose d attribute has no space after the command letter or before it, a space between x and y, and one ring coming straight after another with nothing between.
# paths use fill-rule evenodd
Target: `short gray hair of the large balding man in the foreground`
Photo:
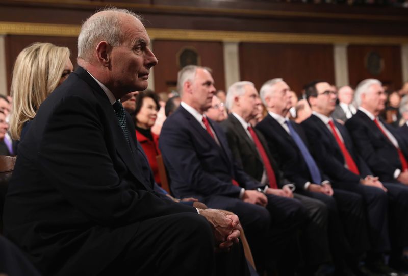
<instances>
[{"instance_id":1,"label":"short gray hair of the large balding man in the foreground","mask_svg":"<svg viewBox=\"0 0 408 276\"><path fill-rule=\"evenodd\" d=\"M100 12L108 13L98 15ZM129 14L142 21L141 16L126 9L116 7L100 9L82 24L78 36L78 58L89 62L97 43L100 41L105 40L113 47L120 46L123 43L125 37L121 28L122 22L119 20L117 13Z\"/></svg>"}]
</instances>

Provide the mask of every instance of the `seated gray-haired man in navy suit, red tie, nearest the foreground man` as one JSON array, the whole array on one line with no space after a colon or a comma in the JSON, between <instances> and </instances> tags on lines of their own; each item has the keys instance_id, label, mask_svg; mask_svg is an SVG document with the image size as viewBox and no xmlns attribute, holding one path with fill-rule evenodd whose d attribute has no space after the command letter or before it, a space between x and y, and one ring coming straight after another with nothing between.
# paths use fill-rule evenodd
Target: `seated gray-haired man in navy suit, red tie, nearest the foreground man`
<instances>
[{"instance_id":1,"label":"seated gray-haired man in navy suit, red tie, nearest the foreground man","mask_svg":"<svg viewBox=\"0 0 408 276\"><path fill-rule=\"evenodd\" d=\"M289 242L307 210L297 200L273 195L233 161L223 130L203 115L216 91L208 68L184 67L177 88L181 106L164 122L159 139L172 192L237 214L258 272L279 257L278 269L289 275L296 260L285 249L294 248Z\"/></svg>"}]
</instances>

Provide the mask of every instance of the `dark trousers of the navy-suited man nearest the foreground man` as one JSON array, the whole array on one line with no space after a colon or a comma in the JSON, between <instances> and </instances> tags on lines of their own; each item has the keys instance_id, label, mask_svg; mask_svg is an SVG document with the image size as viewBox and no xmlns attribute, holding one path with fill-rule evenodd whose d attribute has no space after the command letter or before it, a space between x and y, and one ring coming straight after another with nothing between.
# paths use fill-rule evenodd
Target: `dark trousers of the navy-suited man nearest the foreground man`
<instances>
[{"instance_id":1,"label":"dark trousers of the navy-suited man nearest the foreground man","mask_svg":"<svg viewBox=\"0 0 408 276\"><path fill-rule=\"evenodd\" d=\"M288 267L294 267L297 234L307 220L307 210L298 200L275 195L267 197L266 208L226 196L203 199L209 208L225 209L238 215L259 273L272 262L283 267L285 262L291 262Z\"/></svg>"}]
</instances>

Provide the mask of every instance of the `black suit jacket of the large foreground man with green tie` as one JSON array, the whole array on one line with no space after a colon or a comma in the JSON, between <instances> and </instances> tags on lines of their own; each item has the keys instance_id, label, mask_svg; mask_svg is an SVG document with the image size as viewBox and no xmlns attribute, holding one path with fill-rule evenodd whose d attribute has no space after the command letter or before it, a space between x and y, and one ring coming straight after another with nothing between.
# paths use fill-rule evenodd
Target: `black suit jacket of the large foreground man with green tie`
<instances>
[{"instance_id":1,"label":"black suit jacket of the large foreground man with green tie","mask_svg":"<svg viewBox=\"0 0 408 276\"><path fill-rule=\"evenodd\" d=\"M40 106L18 146L5 233L44 275L96 275L140 221L196 212L152 192L127 115L127 143L108 97L83 68Z\"/></svg>"}]
</instances>

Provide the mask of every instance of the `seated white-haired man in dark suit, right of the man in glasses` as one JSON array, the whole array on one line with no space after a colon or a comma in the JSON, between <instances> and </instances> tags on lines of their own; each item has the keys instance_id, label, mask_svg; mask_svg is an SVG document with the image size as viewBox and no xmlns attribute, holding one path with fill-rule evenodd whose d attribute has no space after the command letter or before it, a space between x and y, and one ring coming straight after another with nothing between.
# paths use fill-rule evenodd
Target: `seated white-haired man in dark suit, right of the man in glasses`
<instances>
[{"instance_id":1,"label":"seated white-haired man in dark suit, right of the man in glasses","mask_svg":"<svg viewBox=\"0 0 408 276\"><path fill-rule=\"evenodd\" d=\"M385 108L386 99L381 82L375 79L362 81L355 89L358 111L346 122L346 127L357 152L388 189L393 249L390 265L408 270L400 259L402 247L408 242L408 220L404 208L407 188L403 187L403 184L408 185L408 148L395 129L378 117Z\"/></svg>"}]
</instances>

